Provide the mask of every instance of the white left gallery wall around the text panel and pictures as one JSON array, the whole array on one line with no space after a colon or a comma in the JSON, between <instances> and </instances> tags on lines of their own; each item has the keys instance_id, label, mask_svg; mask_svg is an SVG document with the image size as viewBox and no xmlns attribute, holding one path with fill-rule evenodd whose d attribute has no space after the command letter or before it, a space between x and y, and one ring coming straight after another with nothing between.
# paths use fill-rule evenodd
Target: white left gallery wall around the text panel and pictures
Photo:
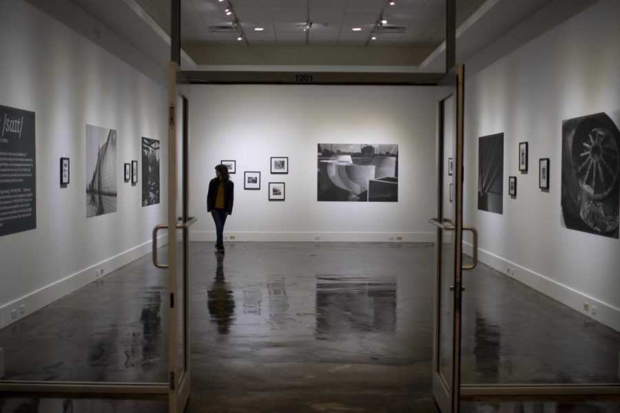
<instances>
[{"instance_id":1,"label":"white left gallery wall around the text panel and pictures","mask_svg":"<svg viewBox=\"0 0 620 413\"><path fill-rule=\"evenodd\" d=\"M0 237L0 328L150 251L165 207L142 207L123 164L141 138L161 140L165 165L167 94L161 85L22 0L0 2L0 105L35 113L37 229ZM117 209L86 218L86 125L116 129ZM70 158L61 188L59 162ZM167 180L161 171L161 198ZM165 240L163 240L165 242ZM21 313L19 308L23 307ZM11 310L18 309L17 318Z\"/></svg>"}]
</instances>

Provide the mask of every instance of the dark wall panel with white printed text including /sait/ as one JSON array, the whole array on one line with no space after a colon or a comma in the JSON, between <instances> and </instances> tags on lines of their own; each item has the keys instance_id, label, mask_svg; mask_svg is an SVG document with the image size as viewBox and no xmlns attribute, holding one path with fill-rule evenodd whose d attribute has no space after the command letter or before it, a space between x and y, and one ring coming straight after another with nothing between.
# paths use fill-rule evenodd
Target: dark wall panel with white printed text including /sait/
<instances>
[{"instance_id":1,"label":"dark wall panel with white printed text including /sait/","mask_svg":"<svg viewBox=\"0 0 620 413\"><path fill-rule=\"evenodd\" d=\"M37 228L34 112L0 105L0 236Z\"/></svg>"}]
</instances>

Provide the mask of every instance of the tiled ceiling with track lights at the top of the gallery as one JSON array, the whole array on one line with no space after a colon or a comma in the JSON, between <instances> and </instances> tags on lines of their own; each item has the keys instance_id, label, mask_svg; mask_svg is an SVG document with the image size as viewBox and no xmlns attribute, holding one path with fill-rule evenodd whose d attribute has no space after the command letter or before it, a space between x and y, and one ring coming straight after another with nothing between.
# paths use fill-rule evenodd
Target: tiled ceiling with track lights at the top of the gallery
<instances>
[{"instance_id":1,"label":"tiled ceiling with track lights at the top of the gallery","mask_svg":"<svg viewBox=\"0 0 620 413\"><path fill-rule=\"evenodd\" d=\"M136 0L158 25L170 33L170 0ZM457 25L485 0L456 0ZM445 0L181 0L182 45L316 45L437 47L445 39ZM224 12L231 6L234 14ZM386 28L402 33L376 32L380 17ZM236 32L214 32L231 26ZM304 24L313 23L304 32ZM258 32L255 28L263 28ZM361 28L354 32L352 28ZM240 31L245 41L237 41ZM371 40L375 32L376 40Z\"/></svg>"}]
</instances>

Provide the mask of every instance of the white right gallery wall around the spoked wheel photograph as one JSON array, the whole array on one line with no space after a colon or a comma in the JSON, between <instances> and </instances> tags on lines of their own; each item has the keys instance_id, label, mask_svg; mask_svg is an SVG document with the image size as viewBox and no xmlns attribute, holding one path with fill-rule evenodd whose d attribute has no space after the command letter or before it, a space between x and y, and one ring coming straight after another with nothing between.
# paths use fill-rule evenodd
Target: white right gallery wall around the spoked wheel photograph
<instances>
[{"instance_id":1,"label":"white right gallery wall around the spoked wheel photograph","mask_svg":"<svg viewBox=\"0 0 620 413\"><path fill-rule=\"evenodd\" d=\"M619 125L618 16L619 1L598 1L506 54L500 46L527 30L530 19L466 62L464 160L464 223L479 231L480 259L502 273L514 268L519 281L615 330L620 330L620 241L563 228L560 193L562 121L606 112L615 114ZM493 63L479 69L482 61ZM468 66L477 71L467 76ZM501 132L504 213L499 215L477 209L477 162L478 138ZM529 144L526 173L518 170L519 142ZM539 158L550 158L548 191L539 189ZM508 176L517 176L516 198L508 195ZM587 312L583 303L589 304Z\"/></svg>"}]
</instances>

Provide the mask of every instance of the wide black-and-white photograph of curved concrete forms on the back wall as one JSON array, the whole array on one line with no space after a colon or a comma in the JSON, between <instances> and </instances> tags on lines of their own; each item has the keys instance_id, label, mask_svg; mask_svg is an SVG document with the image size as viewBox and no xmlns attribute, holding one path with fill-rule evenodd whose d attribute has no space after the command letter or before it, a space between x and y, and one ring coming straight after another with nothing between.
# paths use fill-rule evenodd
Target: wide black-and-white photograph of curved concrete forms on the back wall
<instances>
[{"instance_id":1,"label":"wide black-and-white photograph of curved concrete forms on the back wall","mask_svg":"<svg viewBox=\"0 0 620 413\"><path fill-rule=\"evenodd\" d=\"M398 145L318 144L318 201L398 202Z\"/></svg>"}]
</instances>

